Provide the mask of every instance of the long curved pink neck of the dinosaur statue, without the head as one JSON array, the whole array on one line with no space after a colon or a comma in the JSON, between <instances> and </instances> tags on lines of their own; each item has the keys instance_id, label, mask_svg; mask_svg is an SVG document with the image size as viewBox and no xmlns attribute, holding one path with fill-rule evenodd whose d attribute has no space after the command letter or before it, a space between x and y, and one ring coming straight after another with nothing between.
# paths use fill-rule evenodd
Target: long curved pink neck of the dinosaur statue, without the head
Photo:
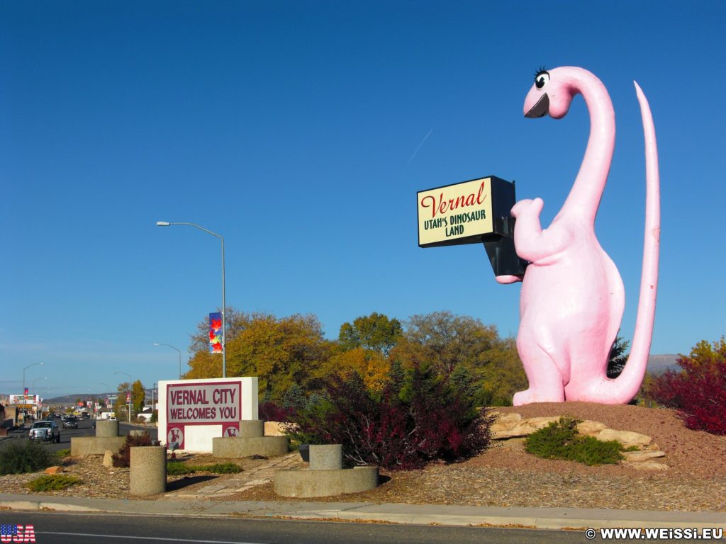
<instances>
[{"instance_id":1,"label":"long curved pink neck of the dinosaur statue, without the head","mask_svg":"<svg viewBox=\"0 0 726 544\"><path fill-rule=\"evenodd\" d=\"M585 99L590 111L590 138L580 171L558 218L579 218L594 226L613 158L615 112L603 83L586 70L572 70L568 87L573 95L579 93Z\"/></svg>"}]
</instances>

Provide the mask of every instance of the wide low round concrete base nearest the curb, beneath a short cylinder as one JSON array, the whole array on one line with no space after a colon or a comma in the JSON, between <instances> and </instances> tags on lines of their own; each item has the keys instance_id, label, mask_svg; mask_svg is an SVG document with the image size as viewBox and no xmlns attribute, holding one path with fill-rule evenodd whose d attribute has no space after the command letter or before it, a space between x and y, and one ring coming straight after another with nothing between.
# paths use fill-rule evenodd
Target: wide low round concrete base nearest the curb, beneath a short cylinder
<instances>
[{"instance_id":1,"label":"wide low round concrete base nearest the curb, beneath a short cylinder","mask_svg":"<svg viewBox=\"0 0 726 544\"><path fill-rule=\"evenodd\" d=\"M356 466L339 470L278 470L274 492L283 497L328 497L360 493L378 486L378 466Z\"/></svg>"}]
</instances>

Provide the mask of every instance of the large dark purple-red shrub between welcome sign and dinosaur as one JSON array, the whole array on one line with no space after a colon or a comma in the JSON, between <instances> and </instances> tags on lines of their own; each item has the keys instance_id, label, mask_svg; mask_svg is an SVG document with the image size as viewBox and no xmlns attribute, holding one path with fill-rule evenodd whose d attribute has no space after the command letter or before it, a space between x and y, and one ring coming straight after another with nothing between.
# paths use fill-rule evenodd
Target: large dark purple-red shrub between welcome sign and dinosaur
<instances>
[{"instance_id":1,"label":"large dark purple-red shrub between welcome sign and dinosaur","mask_svg":"<svg viewBox=\"0 0 726 544\"><path fill-rule=\"evenodd\" d=\"M301 442L342 444L348 462L387 469L472 456L489 444L491 423L448 381L418 367L380 396L358 374L334 378L325 402L299 414L297 422Z\"/></svg>"}]
</instances>

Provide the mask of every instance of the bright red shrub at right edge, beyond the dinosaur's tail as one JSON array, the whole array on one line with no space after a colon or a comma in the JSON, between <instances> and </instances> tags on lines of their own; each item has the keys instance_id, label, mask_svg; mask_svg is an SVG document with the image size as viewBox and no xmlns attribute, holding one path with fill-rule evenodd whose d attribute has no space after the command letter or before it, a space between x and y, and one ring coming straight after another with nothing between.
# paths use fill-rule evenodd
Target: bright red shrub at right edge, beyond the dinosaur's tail
<instances>
[{"instance_id":1,"label":"bright red shrub at right edge, beyond the dinosaur's tail","mask_svg":"<svg viewBox=\"0 0 726 544\"><path fill-rule=\"evenodd\" d=\"M685 426L726 434L726 342L713 349L700 342L690 357L678 359L680 372L667 371L650 388L658 403L677 409Z\"/></svg>"}]
</instances>

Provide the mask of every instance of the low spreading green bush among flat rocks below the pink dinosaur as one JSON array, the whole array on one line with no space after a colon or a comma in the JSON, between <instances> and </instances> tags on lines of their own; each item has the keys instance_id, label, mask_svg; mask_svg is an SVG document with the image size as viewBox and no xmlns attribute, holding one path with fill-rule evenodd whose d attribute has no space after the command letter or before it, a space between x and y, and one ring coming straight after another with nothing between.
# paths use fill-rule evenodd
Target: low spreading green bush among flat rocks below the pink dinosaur
<instances>
[{"instance_id":1,"label":"low spreading green bush among flat rocks below the pink dinosaur","mask_svg":"<svg viewBox=\"0 0 726 544\"><path fill-rule=\"evenodd\" d=\"M566 459L586 465L617 464L624 457L623 446L616 440L603 442L577 432L576 419L560 418L527 437L525 450L545 459Z\"/></svg>"}]
</instances>

